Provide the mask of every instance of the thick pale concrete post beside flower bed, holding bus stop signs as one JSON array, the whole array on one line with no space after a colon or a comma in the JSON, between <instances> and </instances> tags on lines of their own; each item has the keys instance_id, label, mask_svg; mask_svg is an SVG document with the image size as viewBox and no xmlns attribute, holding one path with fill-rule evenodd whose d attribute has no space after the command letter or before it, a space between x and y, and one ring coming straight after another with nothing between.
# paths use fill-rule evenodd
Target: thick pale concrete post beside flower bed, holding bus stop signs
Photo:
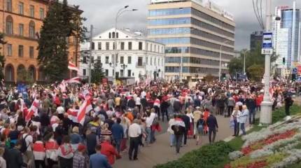
<instances>
[{"instance_id":1,"label":"thick pale concrete post beside flower bed, holding bus stop signs","mask_svg":"<svg viewBox=\"0 0 301 168\"><path fill-rule=\"evenodd\" d=\"M267 12L266 12L266 27L265 31L271 31L271 20L272 20L272 0L267 0ZM269 76L270 76L271 59L270 55L265 55L265 94L263 102L261 104L260 111L260 124L271 124L272 123L272 102L269 97Z\"/></svg>"}]
</instances>

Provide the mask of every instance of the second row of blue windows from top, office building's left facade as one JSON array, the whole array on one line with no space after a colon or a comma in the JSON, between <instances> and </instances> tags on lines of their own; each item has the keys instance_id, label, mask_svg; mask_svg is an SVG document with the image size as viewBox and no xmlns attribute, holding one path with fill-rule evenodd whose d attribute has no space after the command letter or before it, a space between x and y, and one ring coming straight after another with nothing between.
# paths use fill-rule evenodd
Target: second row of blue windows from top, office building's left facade
<instances>
[{"instance_id":1,"label":"second row of blue windows from top, office building's left facade","mask_svg":"<svg viewBox=\"0 0 301 168\"><path fill-rule=\"evenodd\" d=\"M190 24L190 18L171 18L171 19L155 19L148 20L148 25L187 25Z\"/></svg>"}]
</instances>

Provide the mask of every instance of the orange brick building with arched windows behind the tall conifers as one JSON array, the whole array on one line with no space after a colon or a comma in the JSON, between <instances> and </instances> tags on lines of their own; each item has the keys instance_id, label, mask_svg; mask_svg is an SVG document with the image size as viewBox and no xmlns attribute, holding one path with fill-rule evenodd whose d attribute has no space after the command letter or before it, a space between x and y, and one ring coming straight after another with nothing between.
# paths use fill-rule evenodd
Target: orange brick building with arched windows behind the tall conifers
<instances>
[{"instance_id":1,"label":"orange brick building with arched windows behind the tall conifers","mask_svg":"<svg viewBox=\"0 0 301 168\"><path fill-rule=\"evenodd\" d=\"M24 71L34 81L45 80L45 74L38 66L36 48L49 0L0 0L0 4L0 17L3 20L0 22L0 31L5 34L6 41L0 52L6 58L3 72L6 82L17 82ZM78 11L80 14L83 12ZM79 42L76 43L73 37L68 40L69 60L79 66ZM72 72L72 76L76 74Z\"/></svg>"}]
</instances>

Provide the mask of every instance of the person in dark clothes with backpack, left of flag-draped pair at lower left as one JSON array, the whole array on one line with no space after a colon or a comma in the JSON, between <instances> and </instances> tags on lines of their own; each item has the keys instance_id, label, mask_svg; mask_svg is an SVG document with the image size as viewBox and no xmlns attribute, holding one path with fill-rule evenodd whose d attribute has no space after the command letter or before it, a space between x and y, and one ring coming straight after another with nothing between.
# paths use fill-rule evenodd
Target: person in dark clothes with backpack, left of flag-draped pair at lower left
<instances>
[{"instance_id":1,"label":"person in dark clothes with backpack, left of flag-draped pair at lower left","mask_svg":"<svg viewBox=\"0 0 301 168\"><path fill-rule=\"evenodd\" d=\"M29 134L29 128L25 127L24 132L20 137L20 152L23 153L25 163L31 163L34 167L34 153L32 146L34 145L34 138Z\"/></svg>"}]
</instances>

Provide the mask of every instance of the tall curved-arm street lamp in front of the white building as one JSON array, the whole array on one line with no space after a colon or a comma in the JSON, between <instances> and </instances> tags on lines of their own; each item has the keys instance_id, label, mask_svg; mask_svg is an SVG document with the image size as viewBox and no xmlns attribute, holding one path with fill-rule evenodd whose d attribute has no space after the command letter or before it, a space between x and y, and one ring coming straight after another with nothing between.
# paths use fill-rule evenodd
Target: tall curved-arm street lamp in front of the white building
<instances>
[{"instance_id":1,"label":"tall curved-arm street lamp in front of the white building","mask_svg":"<svg viewBox=\"0 0 301 168\"><path fill-rule=\"evenodd\" d=\"M115 55L113 56L113 83L115 83L116 81L116 59L117 59L117 22L118 22L118 18L120 15L122 15L123 13L127 12L127 11L136 11L137 9L130 9L130 10L125 10L126 8L128 8L129 6L125 6L123 8L120 8L118 10L118 13L116 14L116 18L115 18L115 36L114 36L114 43L115 43Z\"/></svg>"}]
</instances>

